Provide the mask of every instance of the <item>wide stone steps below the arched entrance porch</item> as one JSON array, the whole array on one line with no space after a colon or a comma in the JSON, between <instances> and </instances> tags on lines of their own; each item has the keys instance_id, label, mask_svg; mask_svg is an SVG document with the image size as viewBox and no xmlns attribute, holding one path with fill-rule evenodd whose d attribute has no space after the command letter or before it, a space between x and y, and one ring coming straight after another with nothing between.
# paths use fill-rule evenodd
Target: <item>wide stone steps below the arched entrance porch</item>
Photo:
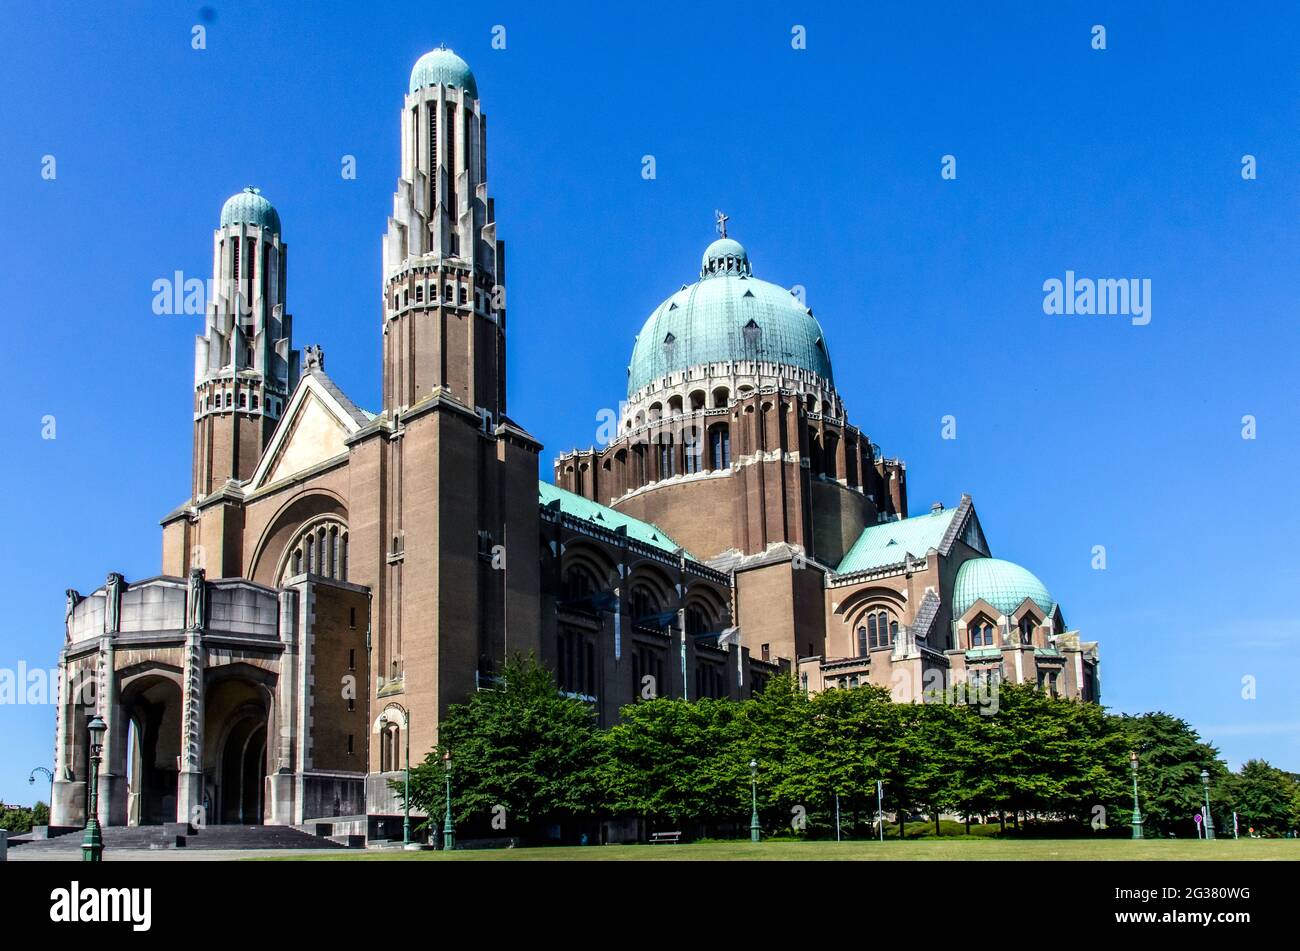
<instances>
[{"instance_id":1,"label":"wide stone steps below the arched entrance porch","mask_svg":"<svg viewBox=\"0 0 1300 951\"><path fill-rule=\"evenodd\" d=\"M324 835L312 835L286 825L208 825L202 829L185 825L105 826L104 851L108 850L251 850L251 848L347 848ZM16 837L9 847L23 855L38 852L81 851L82 830L39 839Z\"/></svg>"}]
</instances>

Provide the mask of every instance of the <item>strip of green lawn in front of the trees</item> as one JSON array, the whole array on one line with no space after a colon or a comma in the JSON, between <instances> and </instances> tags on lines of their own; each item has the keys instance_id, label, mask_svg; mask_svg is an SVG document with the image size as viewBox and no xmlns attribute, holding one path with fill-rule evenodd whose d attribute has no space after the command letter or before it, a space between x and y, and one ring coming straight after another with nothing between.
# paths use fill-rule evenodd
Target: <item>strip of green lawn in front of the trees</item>
<instances>
[{"instance_id":1,"label":"strip of green lawn in front of the trees","mask_svg":"<svg viewBox=\"0 0 1300 951\"><path fill-rule=\"evenodd\" d=\"M287 856L286 856L287 857ZM684 861L684 860L815 860L871 861L907 859L950 860L1048 860L1048 861L1141 861L1280 860L1300 861L1300 839L993 839L962 837L915 842L699 842L680 846L572 846L554 848L485 848L455 852L403 852L369 850L296 855L294 860L326 861Z\"/></svg>"}]
</instances>

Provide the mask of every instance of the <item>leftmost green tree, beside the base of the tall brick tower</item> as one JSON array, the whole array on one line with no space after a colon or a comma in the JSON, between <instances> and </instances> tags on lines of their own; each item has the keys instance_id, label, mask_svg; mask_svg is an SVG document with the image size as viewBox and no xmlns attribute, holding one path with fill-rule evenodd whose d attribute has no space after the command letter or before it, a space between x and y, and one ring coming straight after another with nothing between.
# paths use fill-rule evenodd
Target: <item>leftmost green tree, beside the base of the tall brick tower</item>
<instances>
[{"instance_id":1,"label":"leftmost green tree, beside the base of the tall brick tower","mask_svg":"<svg viewBox=\"0 0 1300 951\"><path fill-rule=\"evenodd\" d=\"M562 695L532 657L507 663L498 689L451 705L438 733L438 746L411 769L411 804L430 817L443 813L447 752L458 824L536 835L543 824L598 808L594 713ZM400 794L400 783L394 786Z\"/></svg>"}]
</instances>

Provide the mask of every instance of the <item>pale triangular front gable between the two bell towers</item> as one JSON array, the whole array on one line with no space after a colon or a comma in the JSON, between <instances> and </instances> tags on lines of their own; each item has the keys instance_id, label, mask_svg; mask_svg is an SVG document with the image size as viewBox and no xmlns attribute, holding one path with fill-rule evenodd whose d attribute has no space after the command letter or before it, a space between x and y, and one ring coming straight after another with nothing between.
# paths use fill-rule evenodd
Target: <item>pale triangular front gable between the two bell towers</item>
<instances>
[{"instance_id":1,"label":"pale triangular front gable between the two bell towers","mask_svg":"<svg viewBox=\"0 0 1300 951\"><path fill-rule=\"evenodd\" d=\"M347 437L370 418L324 370L304 370L247 487L280 482L346 453Z\"/></svg>"}]
</instances>

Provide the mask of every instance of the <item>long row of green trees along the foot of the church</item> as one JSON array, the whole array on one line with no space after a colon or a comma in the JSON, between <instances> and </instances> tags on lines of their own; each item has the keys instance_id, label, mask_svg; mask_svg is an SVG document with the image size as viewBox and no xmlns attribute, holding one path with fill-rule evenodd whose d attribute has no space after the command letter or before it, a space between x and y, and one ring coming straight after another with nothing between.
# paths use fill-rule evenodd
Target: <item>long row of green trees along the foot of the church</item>
<instances>
[{"instance_id":1,"label":"long row of green trees along the foot of the church","mask_svg":"<svg viewBox=\"0 0 1300 951\"><path fill-rule=\"evenodd\" d=\"M996 712L896 704L879 687L807 695L776 678L740 703L634 703L602 730L550 672L515 660L499 689L451 708L439 747L412 768L411 802L442 816L450 752L454 817L485 834L549 838L616 817L725 834L748 826L754 798L768 834L833 834L837 815L845 834L866 834L878 782L887 813L926 816L936 831L941 813L956 813L1004 829L1030 820L1053 834L1127 834L1135 750L1148 835L1195 834L1202 769L1221 829L1234 809L1264 833L1300 825L1295 777L1265 763L1231 774L1166 713L1113 716L1030 686L1002 685L997 699Z\"/></svg>"}]
</instances>

